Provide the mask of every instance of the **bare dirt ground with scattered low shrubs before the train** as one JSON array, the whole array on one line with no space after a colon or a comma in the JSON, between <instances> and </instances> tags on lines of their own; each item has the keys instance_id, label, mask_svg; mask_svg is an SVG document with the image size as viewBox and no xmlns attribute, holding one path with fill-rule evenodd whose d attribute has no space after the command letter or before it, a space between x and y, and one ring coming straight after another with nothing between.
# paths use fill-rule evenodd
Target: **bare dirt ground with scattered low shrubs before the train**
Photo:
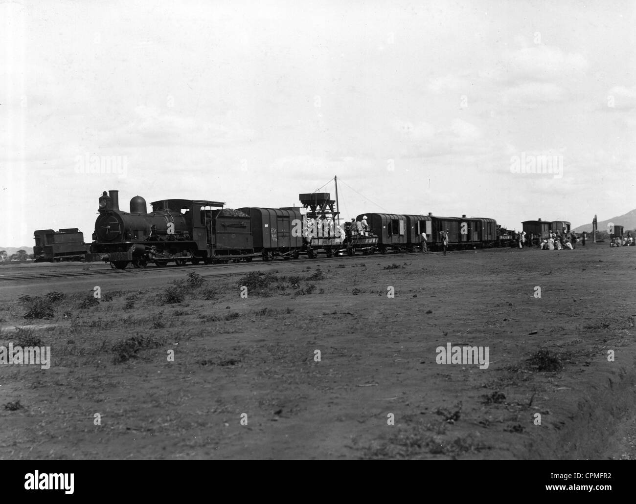
<instances>
[{"instance_id":1,"label":"bare dirt ground with scattered low shrubs before the train","mask_svg":"<svg viewBox=\"0 0 636 504\"><path fill-rule=\"evenodd\" d=\"M0 346L52 353L0 364L0 458L636 458L635 259L588 243L0 268ZM487 346L487 369L438 364L447 343Z\"/></svg>"}]
</instances>

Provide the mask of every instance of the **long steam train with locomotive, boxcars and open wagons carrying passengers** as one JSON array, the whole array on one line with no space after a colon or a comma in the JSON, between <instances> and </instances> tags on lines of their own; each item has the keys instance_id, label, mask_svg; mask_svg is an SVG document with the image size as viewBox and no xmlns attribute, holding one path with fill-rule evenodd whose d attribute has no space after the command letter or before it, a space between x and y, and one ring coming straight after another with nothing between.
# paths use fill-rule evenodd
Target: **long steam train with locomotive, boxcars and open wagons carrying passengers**
<instances>
[{"instance_id":1,"label":"long steam train with locomotive, boxcars and open wagons carrying passengers","mask_svg":"<svg viewBox=\"0 0 636 504\"><path fill-rule=\"evenodd\" d=\"M148 212L146 200L134 196L126 212L119 207L118 191L104 191L86 261L123 269L415 252L422 247L422 234L429 250L441 250L442 231L448 232L449 249L516 246L513 233L486 217L369 212L358 215L357 222L366 226L356 230L356 222L340 226L330 193L300 194L299 200L301 207L230 209L222 201L167 199L151 202Z\"/></svg>"}]
</instances>

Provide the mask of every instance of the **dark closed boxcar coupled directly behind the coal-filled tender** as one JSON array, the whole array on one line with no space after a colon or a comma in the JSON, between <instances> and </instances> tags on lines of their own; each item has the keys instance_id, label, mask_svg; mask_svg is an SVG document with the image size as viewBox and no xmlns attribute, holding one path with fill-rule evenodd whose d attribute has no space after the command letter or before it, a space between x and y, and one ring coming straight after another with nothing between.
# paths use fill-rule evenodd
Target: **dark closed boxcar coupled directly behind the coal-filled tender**
<instances>
[{"instance_id":1,"label":"dark closed boxcar coupled directly behind the coal-filled tender","mask_svg":"<svg viewBox=\"0 0 636 504\"><path fill-rule=\"evenodd\" d=\"M300 211L259 207L245 207L239 210L250 217L254 252L260 253L263 261L270 261L273 257L298 258L303 247L300 228L303 215ZM292 232L294 225L300 232Z\"/></svg>"}]
</instances>

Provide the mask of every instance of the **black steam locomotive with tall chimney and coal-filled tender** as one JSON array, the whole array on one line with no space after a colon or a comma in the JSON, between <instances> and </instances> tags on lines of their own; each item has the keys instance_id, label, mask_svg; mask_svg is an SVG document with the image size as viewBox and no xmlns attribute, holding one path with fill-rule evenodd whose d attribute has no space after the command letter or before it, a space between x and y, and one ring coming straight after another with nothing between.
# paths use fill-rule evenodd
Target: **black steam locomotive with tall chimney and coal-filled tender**
<instances>
[{"instance_id":1,"label":"black steam locomotive with tall chimney and coal-filled tender","mask_svg":"<svg viewBox=\"0 0 636 504\"><path fill-rule=\"evenodd\" d=\"M110 262L124 269L130 263L145 268L149 262L165 266L251 261L254 247L249 215L206 200L160 200L151 203L135 196L130 212L119 208L118 191L99 198L93 243L86 261Z\"/></svg>"}]
</instances>

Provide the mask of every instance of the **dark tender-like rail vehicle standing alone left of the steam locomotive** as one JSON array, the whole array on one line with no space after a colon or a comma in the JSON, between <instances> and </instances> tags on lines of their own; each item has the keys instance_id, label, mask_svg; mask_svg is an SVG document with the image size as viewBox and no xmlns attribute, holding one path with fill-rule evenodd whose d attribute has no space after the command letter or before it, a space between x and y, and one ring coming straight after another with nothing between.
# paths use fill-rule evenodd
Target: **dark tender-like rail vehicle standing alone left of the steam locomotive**
<instances>
[{"instance_id":1,"label":"dark tender-like rail vehicle standing alone left of the steam locomotive","mask_svg":"<svg viewBox=\"0 0 636 504\"><path fill-rule=\"evenodd\" d=\"M88 251L84 234L78 228L59 231L38 229L33 236L36 242L33 257L36 262L83 261Z\"/></svg>"}]
</instances>

